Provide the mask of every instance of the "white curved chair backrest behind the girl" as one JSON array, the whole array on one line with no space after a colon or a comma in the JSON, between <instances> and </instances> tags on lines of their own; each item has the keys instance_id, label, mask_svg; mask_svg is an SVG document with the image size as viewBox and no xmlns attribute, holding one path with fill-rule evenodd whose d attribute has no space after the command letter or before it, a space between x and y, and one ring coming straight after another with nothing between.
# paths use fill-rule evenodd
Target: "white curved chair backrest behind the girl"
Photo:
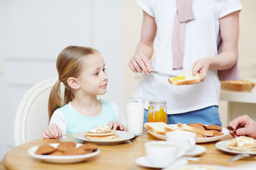
<instances>
[{"instance_id":1,"label":"white curved chair backrest behind the girl","mask_svg":"<svg viewBox=\"0 0 256 170\"><path fill-rule=\"evenodd\" d=\"M15 146L42 138L42 132L49 121L48 98L50 90L57 80L48 79L32 86L21 99L14 123ZM61 84L61 91L64 91L64 87Z\"/></svg>"}]
</instances>

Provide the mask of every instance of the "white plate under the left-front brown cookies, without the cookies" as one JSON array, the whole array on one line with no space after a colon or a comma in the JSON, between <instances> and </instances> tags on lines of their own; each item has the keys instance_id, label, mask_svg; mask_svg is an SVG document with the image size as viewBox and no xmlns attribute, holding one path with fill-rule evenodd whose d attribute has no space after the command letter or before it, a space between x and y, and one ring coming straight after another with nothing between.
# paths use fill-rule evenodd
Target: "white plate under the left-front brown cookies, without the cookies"
<instances>
[{"instance_id":1,"label":"white plate under the left-front brown cookies, without the cookies","mask_svg":"<svg viewBox=\"0 0 256 170\"><path fill-rule=\"evenodd\" d=\"M59 143L50 144L52 147L58 147ZM80 147L82 144L77 143L75 147ZM78 155L43 155L43 154L35 154L36 150L39 146L31 147L28 149L28 154L31 157L42 160L44 162L52 162L52 163L61 163L61 164L68 164L68 163L75 163L75 162L82 162L85 159L90 157L94 157L95 155L100 153L100 149L97 149L95 152L90 154L78 154Z\"/></svg>"}]
</instances>

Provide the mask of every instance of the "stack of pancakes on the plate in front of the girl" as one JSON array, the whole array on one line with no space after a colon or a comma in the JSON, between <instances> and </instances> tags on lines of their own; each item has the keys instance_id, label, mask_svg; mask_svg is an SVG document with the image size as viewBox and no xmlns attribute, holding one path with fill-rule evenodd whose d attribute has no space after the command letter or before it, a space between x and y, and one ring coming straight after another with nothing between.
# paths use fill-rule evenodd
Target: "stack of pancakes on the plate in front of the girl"
<instances>
[{"instance_id":1,"label":"stack of pancakes on the plate in front of the girl","mask_svg":"<svg viewBox=\"0 0 256 170\"><path fill-rule=\"evenodd\" d=\"M88 140L117 140L119 138L114 130L110 130L107 125L97 126L85 132Z\"/></svg>"}]
</instances>

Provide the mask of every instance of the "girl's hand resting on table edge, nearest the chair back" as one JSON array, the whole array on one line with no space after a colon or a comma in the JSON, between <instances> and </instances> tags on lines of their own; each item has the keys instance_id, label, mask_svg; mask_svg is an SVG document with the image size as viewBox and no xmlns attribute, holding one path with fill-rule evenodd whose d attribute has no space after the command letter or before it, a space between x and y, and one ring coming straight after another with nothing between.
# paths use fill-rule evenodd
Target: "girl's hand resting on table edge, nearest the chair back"
<instances>
[{"instance_id":1,"label":"girl's hand resting on table edge, nearest the chair back","mask_svg":"<svg viewBox=\"0 0 256 170\"><path fill-rule=\"evenodd\" d=\"M47 126L47 128L45 130L43 130L43 138L51 138L51 139L58 139L59 135L62 135L62 131L60 128L58 128L58 126L53 123Z\"/></svg>"}]
</instances>

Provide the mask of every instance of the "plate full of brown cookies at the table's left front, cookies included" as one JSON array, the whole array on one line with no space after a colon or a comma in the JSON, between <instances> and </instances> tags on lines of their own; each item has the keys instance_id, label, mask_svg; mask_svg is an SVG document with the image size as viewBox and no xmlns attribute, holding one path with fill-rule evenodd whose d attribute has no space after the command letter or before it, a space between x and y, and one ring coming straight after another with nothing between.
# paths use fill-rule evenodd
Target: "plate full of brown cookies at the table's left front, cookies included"
<instances>
[{"instance_id":1,"label":"plate full of brown cookies at the table's left front, cookies included","mask_svg":"<svg viewBox=\"0 0 256 170\"><path fill-rule=\"evenodd\" d=\"M68 164L82 162L100 153L97 145L61 142L50 145L39 145L28 149L28 154L34 159L44 162Z\"/></svg>"}]
</instances>

